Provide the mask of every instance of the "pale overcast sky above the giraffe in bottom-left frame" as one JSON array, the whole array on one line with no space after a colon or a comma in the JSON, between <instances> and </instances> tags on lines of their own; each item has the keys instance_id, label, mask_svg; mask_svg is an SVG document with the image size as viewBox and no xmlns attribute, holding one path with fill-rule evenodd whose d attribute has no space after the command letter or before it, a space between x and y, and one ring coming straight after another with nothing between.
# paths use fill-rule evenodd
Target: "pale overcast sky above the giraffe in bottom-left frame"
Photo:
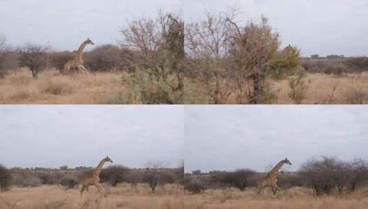
<instances>
[{"instance_id":1,"label":"pale overcast sky above the giraffe in bottom-left frame","mask_svg":"<svg viewBox=\"0 0 368 209\"><path fill-rule=\"evenodd\" d=\"M0 164L22 167L144 167L148 161L176 167L183 159L182 106L0 107Z\"/></svg>"}]
</instances>

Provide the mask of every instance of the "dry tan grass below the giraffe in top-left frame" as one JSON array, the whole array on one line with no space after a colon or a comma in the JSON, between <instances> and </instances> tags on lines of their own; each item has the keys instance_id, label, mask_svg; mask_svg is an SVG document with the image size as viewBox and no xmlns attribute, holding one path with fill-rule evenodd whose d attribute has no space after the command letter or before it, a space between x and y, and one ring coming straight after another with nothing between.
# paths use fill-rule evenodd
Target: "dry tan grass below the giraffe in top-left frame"
<instances>
[{"instance_id":1,"label":"dry tan grass below the giraffe in top-left frame","mask_svg":"<svg viewBox=\"0 0 368 209\"><path fill-rule=\"evenodd\" d=\"M64 76L42 72L33 79L28 70L0 79L1 104L105 104L122 90L122 73Z\"/></svg>"}]
</instances>

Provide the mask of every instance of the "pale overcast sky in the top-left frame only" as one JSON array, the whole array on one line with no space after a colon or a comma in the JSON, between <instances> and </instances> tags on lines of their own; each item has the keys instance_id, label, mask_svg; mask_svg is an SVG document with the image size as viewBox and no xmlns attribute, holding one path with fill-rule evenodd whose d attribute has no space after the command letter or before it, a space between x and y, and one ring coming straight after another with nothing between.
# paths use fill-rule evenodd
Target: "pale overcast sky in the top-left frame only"
<instances>
[{"instance_id":1,"label":"pale overcast sky in the top-left frame only","mask_svg":"<svg viewBox=\"0 0 368 209\"><path fill-rule=\"evenodd\" d=\"M55 50L77 50L87 37L118 44L127 20L181 8L182 0L0 0L0 34L12 45L50 41Z\"/></svg>"}]
</instances>

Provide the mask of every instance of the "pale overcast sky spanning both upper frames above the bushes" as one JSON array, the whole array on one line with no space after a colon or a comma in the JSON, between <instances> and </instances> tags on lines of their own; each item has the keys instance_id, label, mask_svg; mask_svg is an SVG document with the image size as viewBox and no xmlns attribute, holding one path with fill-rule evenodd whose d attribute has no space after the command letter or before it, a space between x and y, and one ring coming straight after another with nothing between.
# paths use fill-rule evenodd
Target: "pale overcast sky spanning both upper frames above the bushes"
<instances>
[{"instance_id":1,"label":"pale overcast sky spanning both upper frames above the bushes","mask_svg":"<svg viewBox=\"0 0 368 209\"><path fill-rule=\"evenodd\" d=\"M56 50L76 50L87 36L96 45L116 44L127 19L153 17L160 9L182 11L186 21L196 21L205 10L224 12L235 5L239 21L264 14L283 46L296 45L303 56L368 55L367 0L0 0L0 33L12 45L50 41Z\"/></svg>"}]
</instances>

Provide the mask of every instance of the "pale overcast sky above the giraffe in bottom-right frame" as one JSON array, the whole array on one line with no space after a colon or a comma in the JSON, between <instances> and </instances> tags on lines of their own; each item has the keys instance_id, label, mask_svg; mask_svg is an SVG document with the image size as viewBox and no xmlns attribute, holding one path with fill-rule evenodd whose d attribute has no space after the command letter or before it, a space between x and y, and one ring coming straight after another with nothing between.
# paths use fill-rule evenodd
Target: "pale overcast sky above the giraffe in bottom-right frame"
<instances>
[{"instance_id":1,"label":"pale overcast sky above the giraffe in bottom-right frame","mask_svg":"<svg viewBox=\"0 0 368 209\"><path fill-rule=\"evenodd\" d=\"M321 155L368 160L368 106L185 107L186 172L297 170Z\"/></svg>"}]
</instances>

